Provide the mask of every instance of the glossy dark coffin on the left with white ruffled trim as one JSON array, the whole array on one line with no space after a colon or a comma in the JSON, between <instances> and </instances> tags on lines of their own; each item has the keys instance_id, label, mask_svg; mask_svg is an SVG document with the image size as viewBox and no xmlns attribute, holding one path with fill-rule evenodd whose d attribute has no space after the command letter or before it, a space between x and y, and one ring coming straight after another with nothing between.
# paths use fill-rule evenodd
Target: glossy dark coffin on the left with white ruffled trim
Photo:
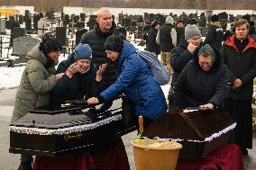
<instances>
[{"instance_id":1,"label":"glossy dark coffin on the left with white ruffled trim","mask_svg":"<svg viewBox=\"0 0 256 170\"><path fill-rule=\"evenodd\" d=\"M44 107L10 125L9 152L55 157L104 145L136 129L123 125L122 100L87 108Z\"/></svg>"}]
</instances>

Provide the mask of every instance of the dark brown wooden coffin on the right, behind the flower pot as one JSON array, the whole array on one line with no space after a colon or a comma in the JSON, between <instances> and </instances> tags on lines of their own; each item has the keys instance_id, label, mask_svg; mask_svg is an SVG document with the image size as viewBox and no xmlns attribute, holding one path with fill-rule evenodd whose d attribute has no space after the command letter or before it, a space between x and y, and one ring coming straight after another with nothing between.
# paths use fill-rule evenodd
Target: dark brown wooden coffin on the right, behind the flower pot
<instances>
[{"instance_id":1,"label":"dark brown wooden coffin on the right, behind the flower pot","mask_svg":"<svg viewBox=\"0 0 256 170\"><path fill-rule=\"evenodd\" d=\"M236 123L228 112L168 112L143 132L143 137L178 141L183 148L179 158L201 159L220 147L230 137Z\"/></svg>"}]
</instances>

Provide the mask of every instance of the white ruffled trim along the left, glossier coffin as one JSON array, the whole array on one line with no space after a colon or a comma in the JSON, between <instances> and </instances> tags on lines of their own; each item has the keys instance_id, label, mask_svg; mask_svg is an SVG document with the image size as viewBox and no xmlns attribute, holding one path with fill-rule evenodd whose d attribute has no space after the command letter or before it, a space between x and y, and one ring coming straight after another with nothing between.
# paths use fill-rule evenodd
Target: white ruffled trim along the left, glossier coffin
<instances>
[{"instance_id":1,"label":"white ruffled trim along the left, glossier coffin","mask_svg":"<svg viewBox=\"0 0 256 170\"><path fill-rule=\"evenodd\" d=\"M26 127L16 127L16 126L9 126L9 130L14 131L15 133L25 133L25 134L31 134L31 135L64 135L64 134L85 131L85 130L93 130L93 129L96 129L97 127L108 124L111 121L119 121L122 119L123 119L122 115L118 114L118 115L114 115L112 117L106 118L105 120L97 121L94 123L83 124L83 125L73 126L69 128L58 129L58 130L26 128Z\"/></svg>"}]
</instances>

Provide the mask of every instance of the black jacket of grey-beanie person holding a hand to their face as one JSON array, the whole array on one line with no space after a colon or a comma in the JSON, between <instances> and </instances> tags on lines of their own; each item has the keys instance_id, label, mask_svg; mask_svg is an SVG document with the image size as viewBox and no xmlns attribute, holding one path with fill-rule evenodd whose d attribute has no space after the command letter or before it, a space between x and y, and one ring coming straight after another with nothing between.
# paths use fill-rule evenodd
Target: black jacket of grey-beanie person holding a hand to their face
<instances>
[{"instance_id":1,"label":"black jacket of grey-beanie person holding a hand to their face","mask_svg":"<svg viewBox=\"0 0 256 170\"><path fill-rule=\"evenodd\" d=\"M170 66L173 70L171 85L175 84L183 68L186 67L190 60L193 59L193 54L187 50L187 46L187 40L182 39L178 47L172 49L171 51Z\"/></svg>"}]
</instances>

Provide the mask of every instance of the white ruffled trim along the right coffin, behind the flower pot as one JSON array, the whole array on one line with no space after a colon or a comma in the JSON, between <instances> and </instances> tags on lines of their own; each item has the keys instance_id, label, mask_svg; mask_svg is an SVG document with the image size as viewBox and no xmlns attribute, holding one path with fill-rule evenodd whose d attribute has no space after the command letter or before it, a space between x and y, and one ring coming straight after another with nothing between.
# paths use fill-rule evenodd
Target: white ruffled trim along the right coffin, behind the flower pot
<instances>
[{"instance_id":1,"label":"white ruffled trim along the right coffin, behind the flower pot","mask_svg":"<svg viewBox=\"0 0 256 170\"><path fill-rule=\"evenodd\" d=\"M205 140L192 140L192 139L160 139L159 137L155 137L154 139L160 139L160 140L172 140L172 141L183 141L183 140L187 140L187 141L191 141L191 142L209 142L212 141L213 139L216 139L220 136L222 136L223 134L227 133L230 130L233 130L236 127L236 122L234 122L232 125L226 127L224 130L220 130L217 133L212 134L210 137L207 137Z\"/></svg>"}]
</instances>

